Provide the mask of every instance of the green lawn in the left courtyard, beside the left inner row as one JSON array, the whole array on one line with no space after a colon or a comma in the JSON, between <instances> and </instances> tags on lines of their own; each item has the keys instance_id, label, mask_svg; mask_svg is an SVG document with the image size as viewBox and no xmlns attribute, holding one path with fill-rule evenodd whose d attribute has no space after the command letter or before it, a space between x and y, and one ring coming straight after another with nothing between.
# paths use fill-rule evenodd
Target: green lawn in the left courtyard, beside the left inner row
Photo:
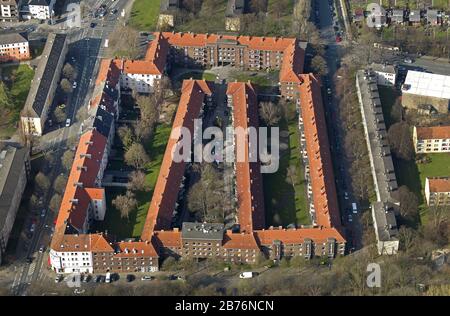
<instances>
[{"instance_id":1,"label":"green lawn in the left courtyard, beside the left inner row","mask_svg":"<svg viewBox=\"0 0 450 316\"><path fill-rule=\"evenodd\" d=\"M159 125L156 128L155 135L150 141L146 150L150 155L151 162L147 165L146 183L149 188L148 192L137 192L138 208L129 214L129 221L120 217L120 212L115 209L111 201L119 194L123 194L126 190L121 188L108 188L106 191L107 213L105 220L99 224L100 230L108 230L116 235L119 239L139 237L144 227L147 217L148 207L153 195L153 189L158 178L159 169L161 167L164 151L170 136L171 126Z\"/></svg>"}]
</instances>

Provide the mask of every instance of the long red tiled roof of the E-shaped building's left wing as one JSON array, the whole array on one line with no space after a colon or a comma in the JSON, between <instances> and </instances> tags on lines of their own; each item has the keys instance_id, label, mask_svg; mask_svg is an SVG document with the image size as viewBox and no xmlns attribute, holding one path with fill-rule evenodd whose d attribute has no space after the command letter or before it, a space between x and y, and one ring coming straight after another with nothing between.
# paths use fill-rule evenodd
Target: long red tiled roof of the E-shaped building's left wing
<instances>
[{"instance_id":1,"label":"long red tiled roof of the E-shaped building's left wing","mask_svg":"<svg viewBox=\"0 0 450 316\"><path fill-rule=\"evenodd\" d=\"M154 229L168 229L172 221L172 212L178 197L178 188L185 171L185 162L174 162L173 153L177 150L180 128L185 127L191 135L194 119L199 117L205 95L211 95L210 86L204 80L185 80L181 89L181 98L172 126L164 158L159 170L158 180L142 232L143 240L150 240Z\"/></svg>"}]
</instances>

